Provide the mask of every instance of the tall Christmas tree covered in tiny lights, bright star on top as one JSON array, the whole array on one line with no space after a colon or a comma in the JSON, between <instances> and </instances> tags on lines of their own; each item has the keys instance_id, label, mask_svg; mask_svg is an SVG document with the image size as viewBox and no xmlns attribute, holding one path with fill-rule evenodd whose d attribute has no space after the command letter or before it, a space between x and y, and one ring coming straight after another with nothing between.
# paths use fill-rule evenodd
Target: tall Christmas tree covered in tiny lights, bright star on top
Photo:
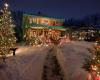
<instances>
[{"instance_id":1,"label":"tall Christmas tree covered in tiny lights, bright star on top","mask_svg":"<svg viewBox=\"0 0 100 80\"><path fill-rule=\"evenodd\" d=\"M15 25L11 18L11 12L8 9L9 5L4 3L0 15L0 55L6 56L12 53L10 48L14 48L16 44L16 37L14 32Z\"/></svg>"}]
</instances>

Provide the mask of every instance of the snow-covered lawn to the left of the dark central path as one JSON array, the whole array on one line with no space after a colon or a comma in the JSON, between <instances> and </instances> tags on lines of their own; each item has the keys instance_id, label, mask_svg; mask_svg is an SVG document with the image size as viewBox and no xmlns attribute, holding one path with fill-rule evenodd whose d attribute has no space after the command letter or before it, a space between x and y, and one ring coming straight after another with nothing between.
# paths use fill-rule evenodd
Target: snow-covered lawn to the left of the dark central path
<instances>
[{"instance_id":1,"label":"snow-covered lawn to the left of the dark central path","mask_svg":"<svg viewBox=\"0 0 100 80\"><path fill-rule=\"evenodd\" d=\"M23 54L18 53L16 56L8 58L6 60L7 68L2 70L3 74L1 74L0 80L41 80L48 50L49 48L45 47L36 50L31 48Z\"/></svg>"}]
</instances>

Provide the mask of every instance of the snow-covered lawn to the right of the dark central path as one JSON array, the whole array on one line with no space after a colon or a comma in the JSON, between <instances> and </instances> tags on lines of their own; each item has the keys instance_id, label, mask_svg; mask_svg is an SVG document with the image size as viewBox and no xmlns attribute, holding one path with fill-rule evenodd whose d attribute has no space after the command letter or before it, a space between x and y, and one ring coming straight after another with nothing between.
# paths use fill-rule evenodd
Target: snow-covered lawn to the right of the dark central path
<instances>
[{"instance_id":1,"label":"snow-covered lawn to the right of the dark central path","mask_svg":"<svg viewBox=\"0 0 100 80\"><path fill-rule=\"evenodd\" d=\"M87 43L68 43L58 48L57 57L65 73L66 80L86 80L87 72L82 69L84 59L90 56Z\"/></svg>"}]
</instances>

